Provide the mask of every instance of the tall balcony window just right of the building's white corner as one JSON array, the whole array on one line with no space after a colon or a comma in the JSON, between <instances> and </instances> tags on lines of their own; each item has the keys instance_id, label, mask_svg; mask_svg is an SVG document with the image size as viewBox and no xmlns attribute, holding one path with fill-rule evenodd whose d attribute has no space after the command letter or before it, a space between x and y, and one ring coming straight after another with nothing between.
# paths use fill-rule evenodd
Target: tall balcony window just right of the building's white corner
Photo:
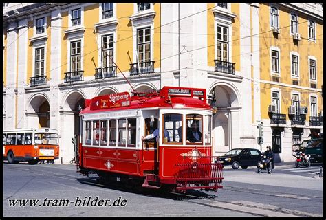
<instances>
[{"instance_id":1,"label":"tall balcony window just right of the building's white corner","mask_svg":"<svg viewBox=\"0 0 326 220\"><path fill-rule=\"evenodd\" d=\"M228 62L228 28L217 25L217 60Z\"/></svg>"}]
</instances>

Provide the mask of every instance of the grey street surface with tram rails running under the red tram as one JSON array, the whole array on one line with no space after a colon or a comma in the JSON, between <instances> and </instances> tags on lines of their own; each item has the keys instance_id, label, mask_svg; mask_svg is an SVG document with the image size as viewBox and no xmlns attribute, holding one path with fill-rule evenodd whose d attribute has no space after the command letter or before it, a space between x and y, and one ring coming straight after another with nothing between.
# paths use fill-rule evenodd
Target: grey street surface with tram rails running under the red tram
<instances>
[{"instance_id":1,"label":"grey street surface with tram rails running under the red tram","mask_svg":"<svg viewBox=\"0 0 326 220\"><path fill-rule=\"evenodd\" d=\"M257 174L254 167L246 170L225 167L224 188L216 193L188 190L186 195L102 186L96 181L97 175L83 177L73 165L5 163L3 166L4 217L318 217L323 214L323 179L314 173L319 166L293 168L276 164L272 174ZM77 197L80 202L74 206L58 207L54 203L60 199L73 203ZM110 199L110 206L82 206L82 199L86 204L87 199L96 197ZM29 203L10 207L13 199L40 202L34 207ZM121 204L124 199L124 206L114 206L113 201Z\"/></svg>"}]
</instances>

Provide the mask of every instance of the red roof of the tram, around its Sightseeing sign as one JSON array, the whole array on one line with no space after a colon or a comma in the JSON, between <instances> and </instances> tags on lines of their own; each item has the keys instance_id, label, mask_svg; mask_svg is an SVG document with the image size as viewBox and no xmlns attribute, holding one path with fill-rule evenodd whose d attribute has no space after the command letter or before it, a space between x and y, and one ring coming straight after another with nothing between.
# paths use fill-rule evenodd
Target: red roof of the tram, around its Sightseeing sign
<instances>
[{"instance_id":1,"label":"red roof of the tram, around its Sightseeing sign","mask_svg":"<svg viewBox=\"0 0 326 220\"><path fill-rule=\"evenodd\" d=\"M186 89L190 90L187 91ZM170 91L174 91L170 92ZM181 91L177 94L176 91ZM182 93L183 92L183 93ZM125 93L121 93L125 94ZM112 95L112 94L111 94ZM205 109L210 110L210 105L206 102L206 89L193 89L182 87L163 87L161 91L153 91L146 94L136 94L129 98L130 102L127 106L107 107L104 109L94 107L98 106L98 100L109 100L110 95L97 96L91 100L85 100L85 109L80 114L106 112L106 111L122 111L130 109L146 109L146 108L162 108L162 109ZM105 105L105 104L104 104Z\"/></svg>"}]
</instances>

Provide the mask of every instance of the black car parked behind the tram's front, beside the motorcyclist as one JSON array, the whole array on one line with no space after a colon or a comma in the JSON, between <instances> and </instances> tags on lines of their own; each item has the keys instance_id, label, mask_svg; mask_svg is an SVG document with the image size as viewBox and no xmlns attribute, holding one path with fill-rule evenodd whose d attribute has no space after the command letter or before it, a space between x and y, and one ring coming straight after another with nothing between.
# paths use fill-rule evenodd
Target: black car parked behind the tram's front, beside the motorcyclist
<instances>
[{"instance_id":1,"label":"black car parked behind the tram's front, beside the motorcyclist","mask_svg":"<svg viewBox=\"0 0 326 220\"><path fill-rule=\"evenodd\" d=\"M257 166L261 159L261 151L254 148L235 148L219 157L223 166L232 166L237 169L239 166L246 169L248 166Z\"/></svg>"}]
</instances>

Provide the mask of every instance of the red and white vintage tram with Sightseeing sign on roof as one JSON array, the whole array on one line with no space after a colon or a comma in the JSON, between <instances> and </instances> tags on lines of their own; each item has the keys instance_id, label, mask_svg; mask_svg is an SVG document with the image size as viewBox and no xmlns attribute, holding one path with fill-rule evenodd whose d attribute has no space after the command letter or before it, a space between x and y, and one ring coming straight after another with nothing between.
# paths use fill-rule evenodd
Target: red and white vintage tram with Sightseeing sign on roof
<instances>
[{"instance_id":1,"label":"red and white vintage tram with Sightseeing sign on roof","mask_svg":"<svg viewBox=\"0 0 326 220\"><path fill-rule=\"evenodd\" d=\"M132 187L217 191L223 166L212 162L211 110L206 89L184 87L85 100L78 172Z\"/></svg>"}]
</instances>

